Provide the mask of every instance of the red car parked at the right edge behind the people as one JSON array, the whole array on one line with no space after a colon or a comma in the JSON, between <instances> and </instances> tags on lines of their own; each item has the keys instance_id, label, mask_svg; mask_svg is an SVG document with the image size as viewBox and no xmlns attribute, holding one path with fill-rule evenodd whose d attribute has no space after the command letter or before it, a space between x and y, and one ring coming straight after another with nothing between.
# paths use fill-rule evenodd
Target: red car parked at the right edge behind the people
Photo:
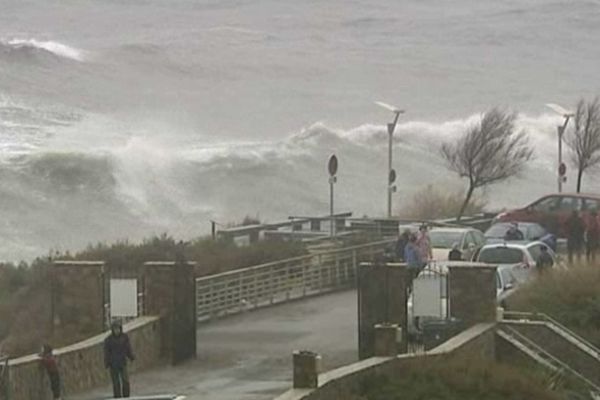
<instances>
[{"instance_id":1,"label":"red car parked at the right edge behind the people","mask_svg":"<svg viewBox=\"0 0 600 400\"><path fill-rule=\"evenodd\" d=\"M566 221L577 210L586 220L592 211L600 212L600 195L558 193L544 196L526 207L500 213L494 222L537 222L558 237L567 233Z\"/></svg>"}]
</instances>

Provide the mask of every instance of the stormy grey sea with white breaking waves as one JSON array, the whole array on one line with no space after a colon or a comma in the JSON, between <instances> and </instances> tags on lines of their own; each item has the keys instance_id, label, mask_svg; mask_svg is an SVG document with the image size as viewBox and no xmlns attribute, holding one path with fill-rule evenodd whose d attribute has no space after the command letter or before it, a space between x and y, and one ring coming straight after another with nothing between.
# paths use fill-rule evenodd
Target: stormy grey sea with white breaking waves
<instances>
[{"instance_id":1,"label":"stormy grey sea with white breaking waves","mask_svg":"<svg viewBox=\"0 0 600 400\"><path fill-rule=\"evenodd\" d=\"M492 106L535 158L490 207L555 190L544 107L600 94L598 0L0 0L0 260L206 234L210 220L396 211L464 187L439 146ZM573 168L567 190L574 188ZM586 191L600 191L593 175Z\"/></svg>"}]
</instances>

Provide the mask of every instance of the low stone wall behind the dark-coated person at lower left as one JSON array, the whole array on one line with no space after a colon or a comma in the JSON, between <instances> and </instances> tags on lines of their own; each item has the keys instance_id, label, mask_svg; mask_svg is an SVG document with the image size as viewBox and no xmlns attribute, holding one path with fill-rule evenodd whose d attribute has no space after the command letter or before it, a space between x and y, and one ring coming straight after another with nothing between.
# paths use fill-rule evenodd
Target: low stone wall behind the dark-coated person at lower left
<instances>
[{"instance_id":1,"label":"low stone wall behind the dark-coated person at lower left","mask_svg":"<svg viewBox=\"0 0 600 400\"><path fill-rule=\"evenodd\" d=\"M160 358L160 319L143 317L124 325L136 360L131 372L158 365ZM107 333L55 350L65 397L110 381L104 368L104 339ZM30 355L9 363L10 400L51 400L50 385L39 357Z\"/></svg>"}]
</instances>

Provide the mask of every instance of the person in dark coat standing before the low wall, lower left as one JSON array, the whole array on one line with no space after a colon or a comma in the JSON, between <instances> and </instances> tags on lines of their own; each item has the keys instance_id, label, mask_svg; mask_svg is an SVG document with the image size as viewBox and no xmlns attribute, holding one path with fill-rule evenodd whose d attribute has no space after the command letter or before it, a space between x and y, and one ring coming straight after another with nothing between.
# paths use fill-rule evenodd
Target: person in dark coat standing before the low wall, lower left
<instances>
[{"instance_id":1,"label":"person in dark coat standing before the low wall, lower left","mask_svg":"<svg viewBox=\"0 0 600 400\"><path fill-rule=\"evenodd\" d=\"M110 369L115 398L129 397L129 374L127 360L133 361L129 337L120 323L111 325L110 335L104 340L104 365Z\"/></svg>"}]
</instances>

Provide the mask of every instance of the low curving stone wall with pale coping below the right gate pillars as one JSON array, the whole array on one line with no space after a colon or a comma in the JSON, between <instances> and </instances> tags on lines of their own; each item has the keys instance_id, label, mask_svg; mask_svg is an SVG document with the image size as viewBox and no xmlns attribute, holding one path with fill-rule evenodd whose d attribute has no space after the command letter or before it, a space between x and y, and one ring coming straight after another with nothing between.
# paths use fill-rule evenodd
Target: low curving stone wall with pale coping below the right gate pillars
<instances>
[{"instance_id":1,"label":"low curving stone wall with pale coping below the right gate pillars","mask_svg":"<svg viewBox=\"0 0 600 400\"><path fill-rule=\"evenodd\" d=\"M319 375L317 389L292 389L276 400L344 400L359 392L374 376L393 378L424 359L465 356L495 359L495 324L477 324L424 355L372 357Z\"/></svg>"}]
</instances>

